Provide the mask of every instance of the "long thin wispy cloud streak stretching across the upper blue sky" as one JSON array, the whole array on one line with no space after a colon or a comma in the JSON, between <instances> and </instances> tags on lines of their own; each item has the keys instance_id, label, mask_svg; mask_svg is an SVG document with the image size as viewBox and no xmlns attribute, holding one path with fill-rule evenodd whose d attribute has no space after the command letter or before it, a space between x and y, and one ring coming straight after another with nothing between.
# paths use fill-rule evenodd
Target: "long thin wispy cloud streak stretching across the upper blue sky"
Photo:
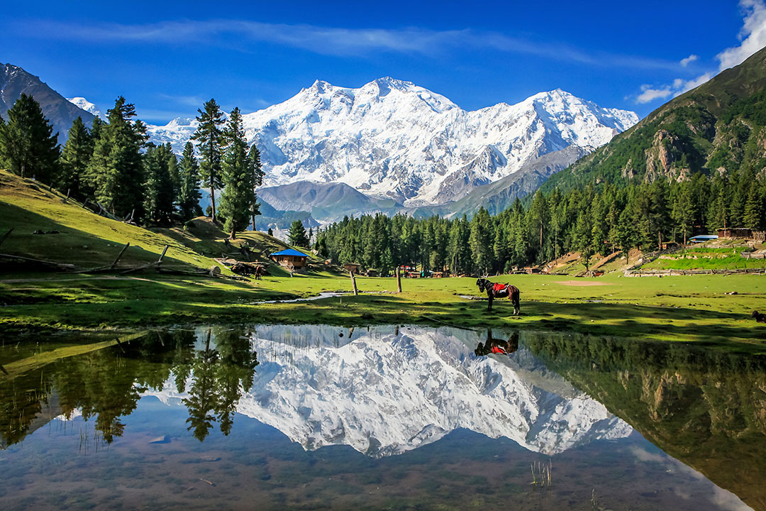
<instances>
[{"instance_id":1,"label":"long thin wispy cloud streak stretching across the upper blue sky","mask_svg":"<svg viewBox=\"0 0 766 511\"><path fill-rule=\"evenodd\" d=\"M638 69L676 69L678 66L673 61L604 51L583 51L561 42L532 41L469 28L443 31L419 27L335 28L224 19L95 26L61 21L24 21L16 23L14 28L25 35L39 38L119 44L218 44L240 51L247 51L250 44L267 42L339 57L367 56L375 51L434 56L470 47L476 50L493 49L505 53L538 55L593 66Z\"/></svg>"}]
</instances>

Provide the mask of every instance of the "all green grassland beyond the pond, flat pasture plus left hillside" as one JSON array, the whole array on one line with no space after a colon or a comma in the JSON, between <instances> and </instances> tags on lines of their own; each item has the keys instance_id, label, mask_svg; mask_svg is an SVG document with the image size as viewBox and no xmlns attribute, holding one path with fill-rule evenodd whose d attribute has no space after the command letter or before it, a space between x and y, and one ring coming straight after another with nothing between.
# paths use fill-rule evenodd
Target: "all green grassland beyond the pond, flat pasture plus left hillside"
<instances>
[{"instance_id":1,"label":"all green grassland beyond the pond, flat pasture plus left hillside","mask_svg":"<svg viewBox=\"0 0 766 511\"><path fill-rule=\"evenodd\" d=\"M267 264L267 255L286 244L248 232L227 246L220 228L201 220L149 231L95 215L57 192L0 172L0 235L11 228L0 253L74 264L85 273L43 272L13 262L0 267L0 329L6 334L202 323L424 323L640 336L766 352L766 325L751 317L753 310L766 311L766 280L761 275L658 278L623 277L613 271L597 278L492 277L521 290L518 317L512 316L508 300L497 301L487 313L475 279L467 277L402 279L401 293L393 278L356 277L359 296L264 303L322 292L350 293L352 285L347 274L315 270L290 277L274 264L268 266L269 276L250 281L158 274L151 269L126 274L124 268L157 260L165 245L165 268L218 266L224 276L231 276L213 257L247 247L254 261ZM111 264L126 243L130 247L115 271L87 273L88 268ZM715 256L727 256L711 250ZM313 257L312 262L319 260ZM571 274L576 270L573 267Z\"/></svg>"}]
</instances>

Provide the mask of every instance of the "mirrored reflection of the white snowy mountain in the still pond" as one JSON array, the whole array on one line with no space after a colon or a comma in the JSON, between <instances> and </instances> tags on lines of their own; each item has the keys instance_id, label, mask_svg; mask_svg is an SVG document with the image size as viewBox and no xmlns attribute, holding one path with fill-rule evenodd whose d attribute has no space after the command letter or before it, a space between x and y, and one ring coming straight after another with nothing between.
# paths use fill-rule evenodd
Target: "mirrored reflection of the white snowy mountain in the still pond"
<instances>
[{"instance_id":1,"label":"mirrored reflection of the white snowy mountain in the still pond","mask_svg":"<svg viewBox=\"0 0 766 511\"><path fill-rule=\"evenodd\" d=\"M252 339L260 365L237 412L306 449L345 444L376 457L457 428L544 454L632 431L523 348L477 357L481 340L448 328L260 326ZM175 404L186 397L172 379L146 395Z\"/></svg>"}]
</instances>

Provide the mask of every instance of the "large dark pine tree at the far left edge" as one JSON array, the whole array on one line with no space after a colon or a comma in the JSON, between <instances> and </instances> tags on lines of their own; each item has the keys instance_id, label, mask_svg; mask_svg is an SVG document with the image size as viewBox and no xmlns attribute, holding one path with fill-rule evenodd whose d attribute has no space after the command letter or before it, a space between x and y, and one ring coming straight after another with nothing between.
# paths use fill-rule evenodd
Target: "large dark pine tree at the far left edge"
<instances>
[{"instance_id":1,"label":"large dark pine tree at the far left edge","mask_svg":"<svg viewBox=\"0 0 766 511\"><path fill-rule=\"evenodd\" d=\"M0 124L0 162L22 178L34 177L50 184L58 173L58 133L43 115L34 97L21 93L10 110L8 123Z\"/></svg>"}]
</instances>

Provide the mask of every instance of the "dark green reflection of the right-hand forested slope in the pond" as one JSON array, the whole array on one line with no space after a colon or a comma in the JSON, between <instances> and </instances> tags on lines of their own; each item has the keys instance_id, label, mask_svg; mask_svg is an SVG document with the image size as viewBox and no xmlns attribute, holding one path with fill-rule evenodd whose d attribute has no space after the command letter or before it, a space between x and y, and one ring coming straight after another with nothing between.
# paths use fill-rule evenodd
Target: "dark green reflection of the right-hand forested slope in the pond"
<instances>
[{"instance_id":1,"label":"dark green reflection of the right-hand forested slope in the pond","mask_svg":"<svg viewBox=\"0 0 766 511\"><path fill-rule=\"evenodd\" d=\"M648 441L766 509L766 359L576 335L525 336L525 344Z\"/></svg>"}]
</instances>

